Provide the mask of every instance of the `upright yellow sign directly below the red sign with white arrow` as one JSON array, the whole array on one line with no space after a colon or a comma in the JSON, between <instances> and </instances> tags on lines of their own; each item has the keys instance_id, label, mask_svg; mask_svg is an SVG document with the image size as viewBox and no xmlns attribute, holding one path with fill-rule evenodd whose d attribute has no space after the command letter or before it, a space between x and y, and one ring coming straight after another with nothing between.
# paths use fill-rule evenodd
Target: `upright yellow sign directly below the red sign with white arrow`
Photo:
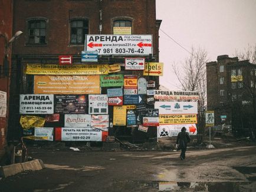
<instances>
[{"instance_id":1,"label":"upright yellow sign directly below the red sign with white arrow","mask_svg":"<svg viewBox=\"0 0 256 192\"><path fill-rule=\"evenodd\" d=\"M114 106L113 125L126 125L126 105Z\"/></svg>"}]
</instances>

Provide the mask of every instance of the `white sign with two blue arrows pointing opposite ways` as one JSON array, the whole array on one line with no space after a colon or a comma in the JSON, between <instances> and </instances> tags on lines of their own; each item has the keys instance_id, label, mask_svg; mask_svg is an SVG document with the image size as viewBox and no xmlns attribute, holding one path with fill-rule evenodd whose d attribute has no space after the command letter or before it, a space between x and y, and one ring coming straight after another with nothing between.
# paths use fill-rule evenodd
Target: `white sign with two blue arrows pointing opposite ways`
<instances>
[{"instance_id":1,"label":"white sign with two blue arrows pointing opposite ways","mask_svg":"<svg viewBox=\"0 0 256 192\"><path fill-rule=\"evenodd\" d=\"M156 101L155 108L159 109L159 114L198 114L197 102Z\"/></svg>"}]
</instances>

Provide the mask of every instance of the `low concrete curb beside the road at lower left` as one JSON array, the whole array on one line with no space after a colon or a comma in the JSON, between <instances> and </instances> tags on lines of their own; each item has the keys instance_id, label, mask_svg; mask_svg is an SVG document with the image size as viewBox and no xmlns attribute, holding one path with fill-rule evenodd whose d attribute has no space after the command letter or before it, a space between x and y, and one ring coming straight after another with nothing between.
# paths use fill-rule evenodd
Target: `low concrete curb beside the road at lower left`
<instances>
[{"instance_id":1,"label":"low concrete curb beside the road at lower left","mask_svg":"<svg viewBox=\"0 0 256 192\"><path fill-rule=\"evenodd\" d=\"M32 160L25 163L15 163L0 167L0 177L14 176L24 171L38 171L45 168L42 160Z\"/></svg>"}]
</instances>

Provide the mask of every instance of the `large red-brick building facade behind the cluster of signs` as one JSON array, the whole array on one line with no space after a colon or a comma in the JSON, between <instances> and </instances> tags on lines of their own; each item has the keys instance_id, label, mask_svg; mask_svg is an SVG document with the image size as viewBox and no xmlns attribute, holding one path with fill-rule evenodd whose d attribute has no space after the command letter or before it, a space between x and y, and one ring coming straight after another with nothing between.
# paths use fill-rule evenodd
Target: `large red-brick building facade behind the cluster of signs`
<instances>
[{"instance_id":1,"label":"large red-brick building facade behind the cluster of signs","mask_svg":"<svg viewBox=\"0 0 256 192\"><path fill-rule=\"evenodd\" d=\"M160 20L156 20L155 0L14 1L14 30L24 31L24 36L15 44L12 55L15 74L12 75L11 85L13 102L9 139L21 137L22 134L17 108L19 94L33 94L34 91L34 75L24 74L27 64L58 64L59 55L72 55L73 64L81 64L81 51L84 51L87 34L152 35L152 54L143 57L146 62L158 62L160 23ZM120 63L119 74L143 77L143 71L124 70L124 57L129 56L131 55L99 55L99 61L93 64ZM159 87L159 77L145 78L155 81L156 88ZM107 89L101 87L101 94L106 93ZM112 106L109 107L109 111L111 123ZM44 117L44 115L38 116ZM64 125L60 123L58 126ZM122 129L125 133L125 128ZM114 130L110 130L110 134L114 134L113 132ZM152 134L155 134L155 130ZM151 136L142 135L142 137Z\"/></svg>"}]
</instances>

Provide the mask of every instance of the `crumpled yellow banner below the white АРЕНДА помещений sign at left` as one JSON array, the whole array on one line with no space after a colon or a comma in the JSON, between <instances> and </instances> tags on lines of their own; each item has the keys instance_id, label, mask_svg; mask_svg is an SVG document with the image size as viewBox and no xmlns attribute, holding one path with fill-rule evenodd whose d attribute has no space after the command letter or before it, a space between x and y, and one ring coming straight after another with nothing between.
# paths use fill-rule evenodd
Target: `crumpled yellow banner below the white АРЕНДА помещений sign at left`
<instances>
[{"instance_id":1,"label":"crumpled yellow banner below the white \u0410\u0420\u0415\u041d\u0414\u0410 \u043f\u043e\u043c\u0435\u0449\u0435\u043d\u0438\u0439 sign at left","mask_svg":"<svg viewBox=\"0 0 256 192\"><path fill-rule=\"evenodd\" d=\"M31 128L31 127L44 127L45 118L37 116L21 116L19 120L22 128Z\"/></svg>"}]
</instances>

